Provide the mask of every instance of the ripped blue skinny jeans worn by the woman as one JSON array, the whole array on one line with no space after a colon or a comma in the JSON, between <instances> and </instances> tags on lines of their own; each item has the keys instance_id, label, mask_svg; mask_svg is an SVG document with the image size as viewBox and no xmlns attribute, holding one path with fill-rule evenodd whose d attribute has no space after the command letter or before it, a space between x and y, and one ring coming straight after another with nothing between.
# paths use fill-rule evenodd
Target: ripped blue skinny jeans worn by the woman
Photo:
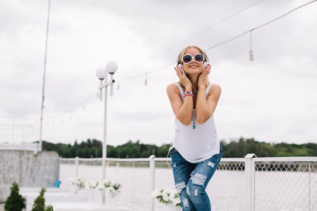
<instances>
[{"instance_id":1,"label":"ripped blue skinny jeans worn by the woman","mask_svg":"<svg viewBox=\"0 0 317 211\"><path fill-rule=\"evenodd\" d=\"M206 187L217 169L221 156L221 145L219 154L199 163L188 162L174 148L171 150L175 188L180 196L183 211L211 210Z\"/></svg>"}]
</instances>

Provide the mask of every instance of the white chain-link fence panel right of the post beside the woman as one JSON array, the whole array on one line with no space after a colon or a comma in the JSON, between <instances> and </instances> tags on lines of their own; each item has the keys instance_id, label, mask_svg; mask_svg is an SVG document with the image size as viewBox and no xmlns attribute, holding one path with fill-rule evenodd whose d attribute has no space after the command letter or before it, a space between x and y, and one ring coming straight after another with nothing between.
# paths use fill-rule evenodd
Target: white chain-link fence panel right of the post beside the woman
<instances>
[{"instance_id":1,"label":"white chain-link fence panel right of the post beside the woman","mask_svg":"<svg viewBox=\"0 0 317 211\"><path fill-rule=\"evenodd\" d=\"M255 158L255 210L317 210L317 163Z\"/></svg>"}]
</instances>

